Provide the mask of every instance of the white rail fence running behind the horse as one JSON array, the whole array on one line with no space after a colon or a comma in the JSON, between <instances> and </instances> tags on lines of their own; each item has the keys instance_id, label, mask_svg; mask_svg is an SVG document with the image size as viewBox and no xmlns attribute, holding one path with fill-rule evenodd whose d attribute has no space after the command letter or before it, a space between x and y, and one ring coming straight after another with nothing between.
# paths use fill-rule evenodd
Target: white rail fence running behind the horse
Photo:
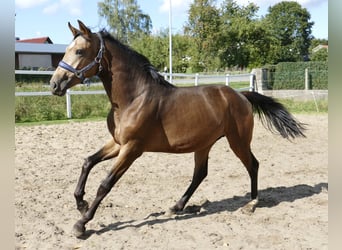
<instances>
[{"instance_id":1,"label":"white rail fence running behind the horse","mask_svg":"<svg viewBox=\"0 0 342 250\"><path fill-rule=\"evenodd\" d=\"M16 70L15 74L22 75L52 75L54 71L34 71L34 70ZM162 75L166 78L170 78L170 74L162 73ZM238 74L238 75L202 75L202 74L172 74L172 79L169 79L172 84L175 85L189 85L194 84L194 86L198 86L200 84L210 84L210 83L224 83L229 86L232 82L249 82L249 86L245 88L237 89L239 91L243 90L254 90L254 74ZM65 97L66 97L66 110L67 117L72 118L71 112L71 96L72 95L103 95L106 94L104 90L82 90L75 91L68 89ZM15 92L15 96L49 96L52 95L50 91L44 92Z\"/></svg>"}]
</instances>

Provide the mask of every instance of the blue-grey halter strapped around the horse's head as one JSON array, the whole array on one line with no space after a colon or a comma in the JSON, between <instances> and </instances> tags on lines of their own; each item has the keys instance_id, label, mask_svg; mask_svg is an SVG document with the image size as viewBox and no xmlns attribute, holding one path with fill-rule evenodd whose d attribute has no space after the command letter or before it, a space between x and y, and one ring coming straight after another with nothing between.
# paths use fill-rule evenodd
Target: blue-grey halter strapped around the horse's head
<instances>
[{"instance_id":1,"label":"blue-grey halter strapped around the horse's head","mask_svg":"<svg viewBox=\"0 0 342 250\"><path fill-rule=\"evenodd\" d=\"M74 73L75 76L81 80L81 83L83 83L83 81L85 79L84 73L86 71L90 70L92 67L94 67L94 65L96 65L96 64L99 65L98 73L100 73L102 70L101 60L102 60L103 53L105 51L105 46L104 46L101 34L98 32L98 33L96 33L96 35L100 39L100 50L97 53L97 56L95 57L95 59L91 63L89 63L87 66L83 67L82 69L77 70L73 66L71 66L70 64L64 62L63 60L58 63L59 67Z\"/></svg>"}]
</instances>

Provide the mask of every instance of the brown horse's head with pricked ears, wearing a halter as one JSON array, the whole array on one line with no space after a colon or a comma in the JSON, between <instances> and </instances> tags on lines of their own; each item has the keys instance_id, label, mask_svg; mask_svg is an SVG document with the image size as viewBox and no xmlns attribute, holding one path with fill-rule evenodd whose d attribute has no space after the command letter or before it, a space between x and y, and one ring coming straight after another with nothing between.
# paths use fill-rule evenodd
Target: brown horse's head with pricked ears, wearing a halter
<instances>
[{"instance_id":1,"label":"brown horse's head with pricked ears, wearing a halter","mask_svg":"<svg viewBox=\"0 0 342 250\"><path fill-rule=\"evenodd\" d=\"M76 29L68 23L74 39L51 77L50 86L54 95L64 95L68 88L101 71L104 52L102 37L92 33L81 21L78 24L79 29Z\"/></svg>"}]
</instances>

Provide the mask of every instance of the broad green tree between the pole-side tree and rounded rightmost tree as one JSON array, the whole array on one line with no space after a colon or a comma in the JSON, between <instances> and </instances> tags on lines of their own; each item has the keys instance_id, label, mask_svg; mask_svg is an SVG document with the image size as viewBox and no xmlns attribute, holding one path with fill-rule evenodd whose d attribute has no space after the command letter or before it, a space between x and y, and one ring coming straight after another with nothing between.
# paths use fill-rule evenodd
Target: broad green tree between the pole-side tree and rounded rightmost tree
<instances>
[{"instance_id":1,"label":"broad green tree between the pole-side tree and rounded rightmost tree","mask_svg":"<svg viewBox=\"0 0 342 250\"><path fill-rule=\"evenodd\" d=\"M223 2L219 46L223 66L245 68L267 62L270 40L267 29L257 19L258 9L253 3L239 6L232 0Z\"/></svg>"}]
</instances>

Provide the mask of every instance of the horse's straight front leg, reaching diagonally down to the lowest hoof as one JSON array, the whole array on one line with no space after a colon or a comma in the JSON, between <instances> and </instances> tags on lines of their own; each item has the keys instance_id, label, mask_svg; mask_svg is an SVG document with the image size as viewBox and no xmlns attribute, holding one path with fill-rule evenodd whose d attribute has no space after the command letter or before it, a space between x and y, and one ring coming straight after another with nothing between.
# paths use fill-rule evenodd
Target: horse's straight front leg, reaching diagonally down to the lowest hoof
<instances>
[{"instance_id":1,"label":"horse's straight front leg, reaching diagonally down to the lowest hoof","mask_svg":"<svg viewBox=\"0 0 342 250\"><path fill-rule=\"evenodd\" d=\"M74 225L74 233L76 237L81 237L85 232L85 225L93 219L97 208L99 207L103 198L110 192L114 184L120 179L120 177L127 171L136 158L142 154L139 147L134 142L127 143L121 146L118 158L114 164L114 167L109 172L107 178L105 178L99 186L95 200L89 207L89 209L82 215L82 218Z\"/></svg>"}]
</instances>

